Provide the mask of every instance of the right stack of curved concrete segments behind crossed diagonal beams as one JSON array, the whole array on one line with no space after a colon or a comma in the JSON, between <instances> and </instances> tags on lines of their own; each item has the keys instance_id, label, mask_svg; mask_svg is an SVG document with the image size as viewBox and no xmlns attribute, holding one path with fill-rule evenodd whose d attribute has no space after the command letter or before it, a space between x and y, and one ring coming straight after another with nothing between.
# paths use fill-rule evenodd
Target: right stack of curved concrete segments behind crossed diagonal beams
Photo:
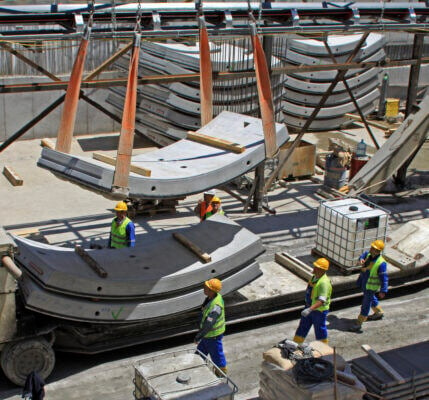
<instances>
[{"instance_id":1,"label":"right stack of curved concrete segments behind crossed diagonal beams","mask_svg":"<svg viewBox=\"0 0 429 400\"><path fill-rule=\"evenodd\" d=\"M362 35L329 36L329 46L335 62L345 63L353 53ZM381 61L385 58L383 35L371 33L357 52L352 62ZM286 49L275 49L274 54L287 65L332 64L333 60L322 40L291 39ZM374 111L379 97L379 68L350 69L345 74L346 82L362 112ZM322 96L334 81L338 71L293 72L284 80L283 114L289 127L301 128L318 106ZM352 119L346 113L356 112L344 82L334 87L325 105L319 110L308 130L324 131L338 129L350 124Z\"/></svg>"}]
</instances>

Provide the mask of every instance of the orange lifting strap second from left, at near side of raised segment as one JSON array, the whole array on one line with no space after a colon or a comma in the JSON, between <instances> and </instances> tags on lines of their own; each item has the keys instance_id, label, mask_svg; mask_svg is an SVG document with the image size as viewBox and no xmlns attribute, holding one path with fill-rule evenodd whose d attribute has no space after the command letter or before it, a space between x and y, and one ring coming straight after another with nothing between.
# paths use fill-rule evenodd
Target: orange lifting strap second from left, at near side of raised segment
<instances>
[{"instance_id":1,"label":"orange lifting strap second from left, at near side of raised segment","mask_svg":"<svg viewBox=\"0 0 429 400\"><path fill-rule=\"evenodd\" d=\"M134 35L133 53L128 71L127 92L125 94L124 112L122 114L121 134L119 136L118 155L116 157L115 177L112 192L121 197L127 196L128 176L130 174L131 156L134 144L134 129L137 107L137 77L139 70L141 35Z\"/></svg>"}]
</instances>

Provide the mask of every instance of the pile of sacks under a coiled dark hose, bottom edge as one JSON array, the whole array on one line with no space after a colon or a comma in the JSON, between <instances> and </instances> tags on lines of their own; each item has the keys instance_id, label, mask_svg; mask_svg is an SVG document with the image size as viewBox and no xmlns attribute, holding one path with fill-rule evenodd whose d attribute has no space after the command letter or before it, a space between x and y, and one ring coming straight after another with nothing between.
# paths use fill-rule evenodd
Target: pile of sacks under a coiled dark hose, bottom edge
<instances>
[{"instance_id":1,"label":"pile of sacks under a coiled dark hose, bottom edge","mask_svg":"<svg viewBox=\"0 0 429 400\"><path fill-rule=\"evenodd\" d=\"M327 344L314 341L310 347L314 357L333 361L333 349ZM338 379L336 384L333 379L320 383L298 383L293 373L295 361L284 358L278 348L268 350L263 358L259 374L259 397L262 400L357 400L362 399L365 392L365 387L350 372L350 367L341 356L336 355L337 374L341 375L341 380Z\"/></svg>"}]
</instances>

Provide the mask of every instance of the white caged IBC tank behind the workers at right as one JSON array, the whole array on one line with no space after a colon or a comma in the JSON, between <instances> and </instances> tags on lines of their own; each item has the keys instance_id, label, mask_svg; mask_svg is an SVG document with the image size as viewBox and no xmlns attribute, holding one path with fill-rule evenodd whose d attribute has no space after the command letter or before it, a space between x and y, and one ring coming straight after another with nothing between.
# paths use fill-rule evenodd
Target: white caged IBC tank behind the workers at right
<instances>
[{"instance_id":1,"label":"white caged IBC tank behind the workers at right","mask_svg":"<svg viewBox=\"0 0 429 400\"><path fill-rule=\"evenodd\" d=\"M322 202L315 250L342 267L355 268L372 241L385 240L388 216L387 210L361 199Z\"/></svg>"}]
</instances>

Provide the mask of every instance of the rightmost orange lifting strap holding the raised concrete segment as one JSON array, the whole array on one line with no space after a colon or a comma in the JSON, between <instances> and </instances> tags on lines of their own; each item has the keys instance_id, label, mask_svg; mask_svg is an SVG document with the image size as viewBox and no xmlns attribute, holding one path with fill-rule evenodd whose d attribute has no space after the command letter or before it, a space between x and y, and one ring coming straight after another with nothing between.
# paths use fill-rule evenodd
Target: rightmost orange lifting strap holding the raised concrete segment
<instances>
[{"instance_id":1,"label":"rightmost orange lifting strap holding the raised concrete segment","mask_svg":"<svg viewBox=\"0 0 429 400\"><path fill-rule=\"evenodd\" d=\"M253 62L255 63L256 82L258 86L259 108L261 109L265 138L265 156L267 158L272 158L277 153L273 95L271 93L270 74L265 52L256 33L256 26L254 23L251 25L251 35Z\"/></svg>"}]
</instances>

